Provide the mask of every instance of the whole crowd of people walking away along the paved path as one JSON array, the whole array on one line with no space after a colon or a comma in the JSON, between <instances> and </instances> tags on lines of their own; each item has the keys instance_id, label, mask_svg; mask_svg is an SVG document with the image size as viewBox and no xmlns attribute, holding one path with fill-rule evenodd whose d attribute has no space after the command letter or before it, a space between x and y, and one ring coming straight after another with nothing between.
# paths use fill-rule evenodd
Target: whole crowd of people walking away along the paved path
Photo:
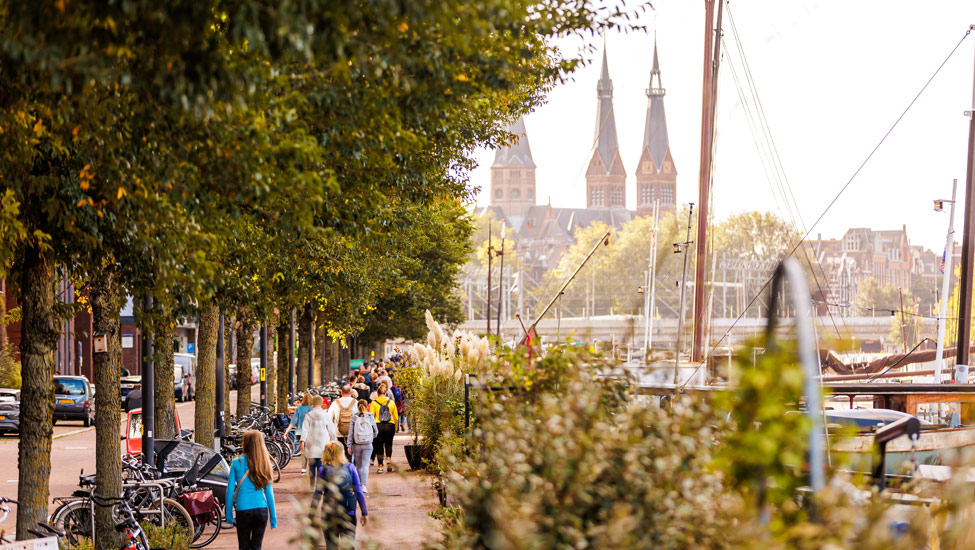
<instances>
[{"instance_id":1,"label":"whole crowd of people walking away along the paved path","mask_svg":"<svg viewBox=\"0 0 975 550\"><path fill-rule=\"evenodd\" d=\"M404 407L390 374L383 368L354 372L328 410L322 396L306 393L286 429L301 442L301 474L309 475L313 513L321 518L326 548L354 540L357 518L366 525L371 463L378 463L376 473L393 471L393 437L401 429ZM260 550L267 525L277 527L270 460L263 434L245 433L243 455L230 468L226 505L241 550Z\"/></svg>"}]
</instances>

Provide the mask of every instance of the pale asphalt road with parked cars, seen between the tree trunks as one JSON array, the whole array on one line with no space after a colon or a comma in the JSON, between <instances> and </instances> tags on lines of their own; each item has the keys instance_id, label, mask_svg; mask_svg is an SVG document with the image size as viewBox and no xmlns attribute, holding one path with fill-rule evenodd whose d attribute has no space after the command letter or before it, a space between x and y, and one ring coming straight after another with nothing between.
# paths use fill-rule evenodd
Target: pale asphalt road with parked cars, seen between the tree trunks
<instances>
[{"instance_id":1,"label":"pale asphalt road with parked cars, seen between the tree trunks","mask_svg":"<svg viewBox=\"0 0 975 550\"><path fill-rule=\"evenodd\" d=\"M236 391L231 392L231 406L236 403ZM192 428L196 401L177 403L180 424ZM125 427L125 414L119 435ZM17 498L17 436L0 438L0 496ZM125 449L123 442L123 451ZM51 444L51 497L69 496L78 487L78 475L95 473L95 428L85 428L81 421L60 421L54 426L54 441ZM49 503L49 511L55 506ZM8 533L16 527L16 506L11 505L11 514L0 522L0 530Z\"/></svg>"}]
</instances>

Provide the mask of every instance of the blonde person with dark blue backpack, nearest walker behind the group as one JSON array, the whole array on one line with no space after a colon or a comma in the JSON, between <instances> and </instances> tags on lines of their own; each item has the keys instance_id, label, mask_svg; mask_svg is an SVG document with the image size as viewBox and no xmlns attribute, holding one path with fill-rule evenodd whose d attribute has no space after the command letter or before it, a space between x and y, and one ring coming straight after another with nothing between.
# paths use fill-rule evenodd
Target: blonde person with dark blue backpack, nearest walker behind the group
<instances>
[{"instance_id":1,"label":"blonde person with dark blue backpack, nearest walker behind the group","mask_svg":"<svg viewBox=\"0 0 975 550\"><path fill-rule=\"evenodd\" d=\"M321 503L325 548L345 548L341 546L345 541L355 541L356 505L362 509L359 521L363 527L368 521L369 510L359 473L345 460L345 452L338 441L329 442L322 451L318 479L312 506L315 508Z\"/></svg>"}]
</instances>

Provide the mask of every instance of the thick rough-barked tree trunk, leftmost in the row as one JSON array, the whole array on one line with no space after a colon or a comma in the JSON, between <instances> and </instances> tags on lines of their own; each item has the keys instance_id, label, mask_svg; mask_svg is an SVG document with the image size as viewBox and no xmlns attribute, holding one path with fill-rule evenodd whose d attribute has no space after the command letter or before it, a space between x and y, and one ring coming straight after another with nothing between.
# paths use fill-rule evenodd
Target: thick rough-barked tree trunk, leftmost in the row
<instances>
[{"instance_id":1,"label":"thick rough-barked tree trunk, leftmost in the row","mask_svg":"<svg viewBox=\"0 0 975 550\"><path fill-rule=\"evenodd\" d=\"M17 449L17 539L47 520L54 416L54 348L60 326L54 313L54 254L36 243L22 249L20 444ZM117 436L116 436L117 437Z\"/></svg>"}]
</instances>

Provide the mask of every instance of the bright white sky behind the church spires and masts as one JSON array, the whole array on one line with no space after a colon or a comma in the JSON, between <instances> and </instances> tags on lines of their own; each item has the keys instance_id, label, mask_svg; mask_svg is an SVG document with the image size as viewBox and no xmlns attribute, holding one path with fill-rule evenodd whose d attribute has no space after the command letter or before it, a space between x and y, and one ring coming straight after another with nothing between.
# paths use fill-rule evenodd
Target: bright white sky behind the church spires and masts
<instances>
[{"instance_id":1,"label":"bright white sky behind the church spires and masts","mask_svg":"<svg viewBox=\"0 0 975 550\"><path fill-rule=\"evenodd\" d=\"M643 142L645 90L655 39L667 90L677 201L697 202L698 194L704 3L653 0L653 6L637 19L648 27L647 32L611 32L605 37L630 209L636 206L633 173ZM954 178L959 180L959 207L964 202L968 147L964 111L973 103L975 33L961 42L835 205L827 207L969 25L975 24L975 2L743 0L726 7L718 76L714 216L770 211L794 220L802 233L811 229L810 238L819 234L839 238L851 227L906 226L911 244L940 252L948 216L934 212L932 202L951 197ZM587 54L593 62L554 89L547 102L525 118L538 166L536 197L541 204L551 199L556 207L585 206L585 170L594 145L603 42L601 37L589 40L596 46L595 52ZM566 39L559 47L575 54L580 44L578 39ZM737 75L742 93L752 97L742 59L750 68L788 188L780 187L783 178L766 175L767 163L762 159L768 154L763 151L770 147L756 145L749 123L757 120L755 102L743 103L735 84ZM759 141L763 140L759 137ZM478 150L475 155L479 167L472 172L471 182L481 187L478 204L483 205L488 201L494 152ZM795 205L791 213L787 203ZM959 242L962 218L959 208L955 215Z\"/></svg>"}]
</instances>

